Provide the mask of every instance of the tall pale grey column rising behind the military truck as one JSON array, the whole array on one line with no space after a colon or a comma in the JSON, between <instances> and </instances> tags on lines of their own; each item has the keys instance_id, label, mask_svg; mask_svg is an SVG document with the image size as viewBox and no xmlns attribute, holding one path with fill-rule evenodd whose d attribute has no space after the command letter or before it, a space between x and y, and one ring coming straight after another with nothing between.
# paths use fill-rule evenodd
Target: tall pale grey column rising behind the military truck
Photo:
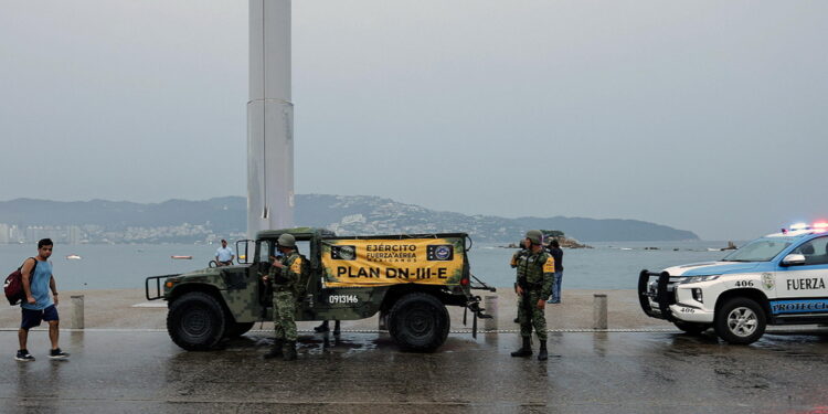
<instances>
[{"instance_id":1,"label":"tall pale grey column rising behind the military truck","mask_svg":"<svg viewBox=\"0 0 828 414\"><path fill-rule=\"evenodd\" d=\"M290 0L250 0L247 236L294 226Z\"/></svg>"}]
</instances>

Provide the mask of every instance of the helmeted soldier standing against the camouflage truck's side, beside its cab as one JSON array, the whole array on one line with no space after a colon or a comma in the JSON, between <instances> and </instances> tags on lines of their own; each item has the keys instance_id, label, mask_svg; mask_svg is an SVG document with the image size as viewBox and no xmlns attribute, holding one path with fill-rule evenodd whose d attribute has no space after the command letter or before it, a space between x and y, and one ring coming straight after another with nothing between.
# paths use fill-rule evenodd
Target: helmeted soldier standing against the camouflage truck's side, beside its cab
<instances>
[{"instance_id":1,"label":"helmeted soldier standing against the camouflage truck's side, beside its cab","mask_svg":"<svg viewBox=\"0 0 828 414\"><path fill-rule=\"evenodd\" d=\"M296 286L301 279L301 257L296 252L296 238L283 234L276 242L282 258L273 262L265 280L273 284L273 323L276 339L266 359L283 357L285 361L296 359Z\"/></svg>"}]
</instances>

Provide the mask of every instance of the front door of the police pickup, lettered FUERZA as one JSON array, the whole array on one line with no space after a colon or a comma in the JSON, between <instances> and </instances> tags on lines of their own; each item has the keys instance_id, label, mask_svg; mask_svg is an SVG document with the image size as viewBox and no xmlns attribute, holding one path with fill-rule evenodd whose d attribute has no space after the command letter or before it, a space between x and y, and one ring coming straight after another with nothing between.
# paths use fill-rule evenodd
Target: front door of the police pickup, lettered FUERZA
<instances>
[{"instance_id":1,"label":"front door of the police pickup, lettered FUERZA","mask_svg":"<svg viewBox=\"0 0 828 414\"><path fill-rule=\"evenodd\" d=\"M777 268L773 314L828 314L828 236L805 242L790 253L805 256L805 263Z\"/></svg>"}]
</instances>

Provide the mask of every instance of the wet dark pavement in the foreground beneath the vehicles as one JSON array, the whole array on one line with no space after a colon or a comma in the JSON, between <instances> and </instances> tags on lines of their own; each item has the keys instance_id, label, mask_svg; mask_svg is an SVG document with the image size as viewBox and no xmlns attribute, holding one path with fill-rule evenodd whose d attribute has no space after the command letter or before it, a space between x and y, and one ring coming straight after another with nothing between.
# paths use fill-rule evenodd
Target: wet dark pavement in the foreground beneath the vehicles
<instances>
[{"instance_id":1,"label":"wet dark pavement in the foreground beneath the vehicles","mask_svg":"<svg viewBox=\"0 0 828 414\"><path fill-rule=\"evenodd\" d=\"M828 413L828 336L767 335L735 347L711 333L551 332L546 362L514 359L513 333L452 335L436 353L388 335L302 335L299 360L263 361L248 333L187 352L166 332L62 332L67 361L13 360L0 332L0 412L94 413ZM326 340L327 339L327 340Z\"/></svg>"}]
</instances>

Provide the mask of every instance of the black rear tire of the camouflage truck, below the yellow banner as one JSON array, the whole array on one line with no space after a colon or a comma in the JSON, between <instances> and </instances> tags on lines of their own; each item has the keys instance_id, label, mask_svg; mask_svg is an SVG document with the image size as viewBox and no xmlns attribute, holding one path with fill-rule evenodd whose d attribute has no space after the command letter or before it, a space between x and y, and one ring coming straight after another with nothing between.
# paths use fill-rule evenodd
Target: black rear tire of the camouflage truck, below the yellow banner
<instances>
[{"instance_id":1,"label":"black rear tire of the camouflage truck, below the yellow banner","mask_svg":"<svg viewBox=\"0 0 828 414\"><path fill-rule=\"evenodd\" d=\"M389 312L389 333L405 351L433 352L446 341L449 326L446 306L428 294L405 295Z\"/></svg>"}]
</instances>

